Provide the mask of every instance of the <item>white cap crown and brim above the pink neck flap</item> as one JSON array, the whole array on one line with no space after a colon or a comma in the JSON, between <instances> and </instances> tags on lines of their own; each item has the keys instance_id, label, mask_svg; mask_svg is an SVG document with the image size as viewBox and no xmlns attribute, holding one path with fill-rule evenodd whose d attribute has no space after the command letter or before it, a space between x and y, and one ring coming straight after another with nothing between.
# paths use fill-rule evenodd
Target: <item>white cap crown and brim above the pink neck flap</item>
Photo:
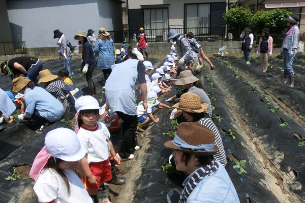
<instances>
[{"instance_id":1,"label":"white cap crown and brim above the pink neck flap","mask_svg":"<svg viewBox=\"0 0 305 203\"><path fill-rule=\"evenodd\" d=\"M76 133L63 127L47 133L45 147L51 156L64 161L78 161L86 154L85 148L81 147Z\"/></svg>"}]
</instances>

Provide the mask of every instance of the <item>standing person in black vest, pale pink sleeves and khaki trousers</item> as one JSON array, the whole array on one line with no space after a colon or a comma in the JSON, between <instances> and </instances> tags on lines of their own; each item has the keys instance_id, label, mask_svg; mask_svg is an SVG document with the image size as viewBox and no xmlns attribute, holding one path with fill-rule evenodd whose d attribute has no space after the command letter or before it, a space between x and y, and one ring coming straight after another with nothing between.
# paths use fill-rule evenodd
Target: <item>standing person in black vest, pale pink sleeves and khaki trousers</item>
<instances>
[{"instance_id":1,"label":"standing person in black vest, pale pink sleeves and khaki trousers","mask_svg":"<svg viewBox=\"0 0 305 203\"><path fill-rule=\"evenodd\" d=\"M261 70L266 73L268 67L268 57L272 55L273 39L270 36L269 29L262 30L262 37L258 42L256 54L260 56Z\"/></svg>"}]
</instances>

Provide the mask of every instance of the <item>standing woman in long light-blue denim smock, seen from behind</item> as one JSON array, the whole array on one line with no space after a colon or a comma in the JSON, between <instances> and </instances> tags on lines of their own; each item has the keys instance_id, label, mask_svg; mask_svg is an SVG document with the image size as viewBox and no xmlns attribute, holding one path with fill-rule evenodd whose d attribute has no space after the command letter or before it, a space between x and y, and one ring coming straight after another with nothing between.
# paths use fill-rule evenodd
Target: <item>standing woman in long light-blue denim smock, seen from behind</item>
<instances>
[{"instance_id":1,"label":"standing woman in long light-blue denim smock, seen from behind","mask_svg":"<svg viewBox=\"0 0 305 203\"><path fill-rule=\"evenodd\" d=\"M111 65L114 64L114 44L110 33L104 27L99 29L98 40L94 53L98 55L98 69L102 69L105 81L111 74Z\"/></svg>"}]
</instances>

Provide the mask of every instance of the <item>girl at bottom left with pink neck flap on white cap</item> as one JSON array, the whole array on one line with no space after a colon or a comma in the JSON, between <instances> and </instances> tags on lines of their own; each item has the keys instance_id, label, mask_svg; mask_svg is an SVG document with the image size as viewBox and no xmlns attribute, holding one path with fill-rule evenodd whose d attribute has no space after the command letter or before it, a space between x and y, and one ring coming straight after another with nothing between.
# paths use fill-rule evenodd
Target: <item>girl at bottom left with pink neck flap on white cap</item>
<instances>
[{"instance_id":1,"label":"girl at bottom left with pink neck flap on white cap","mask_svg":"<svg viewBox=\"0 0 305 203\"><path fill-rule=\"evenodd\" d=\"M72 130L60 127L47 133L29 172L39 202L93 202L80 180L84 172L79 160L85 154Z\"/></svg>"}]
</instances>

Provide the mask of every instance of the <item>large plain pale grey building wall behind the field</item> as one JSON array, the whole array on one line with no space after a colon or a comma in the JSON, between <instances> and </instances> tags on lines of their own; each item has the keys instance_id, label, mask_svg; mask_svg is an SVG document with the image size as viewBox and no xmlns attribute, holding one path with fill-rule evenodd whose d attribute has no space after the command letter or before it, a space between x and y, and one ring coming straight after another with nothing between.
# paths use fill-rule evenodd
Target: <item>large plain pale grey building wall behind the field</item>
<instances>
[{"instance_id":1,"label":"large plain pale grey building wall behind the field","mask_svg":"<svg viewBox=\"0 0 305 203\"><path fill-rule=\"evenodd\" d=\"M59 29L73 39L78 29L99 27L121 30L121 2L115 0L8 0L8 15L14 41L26 41L26 47L54 47L53 30Z\"/></svg>"}]
</instances>

